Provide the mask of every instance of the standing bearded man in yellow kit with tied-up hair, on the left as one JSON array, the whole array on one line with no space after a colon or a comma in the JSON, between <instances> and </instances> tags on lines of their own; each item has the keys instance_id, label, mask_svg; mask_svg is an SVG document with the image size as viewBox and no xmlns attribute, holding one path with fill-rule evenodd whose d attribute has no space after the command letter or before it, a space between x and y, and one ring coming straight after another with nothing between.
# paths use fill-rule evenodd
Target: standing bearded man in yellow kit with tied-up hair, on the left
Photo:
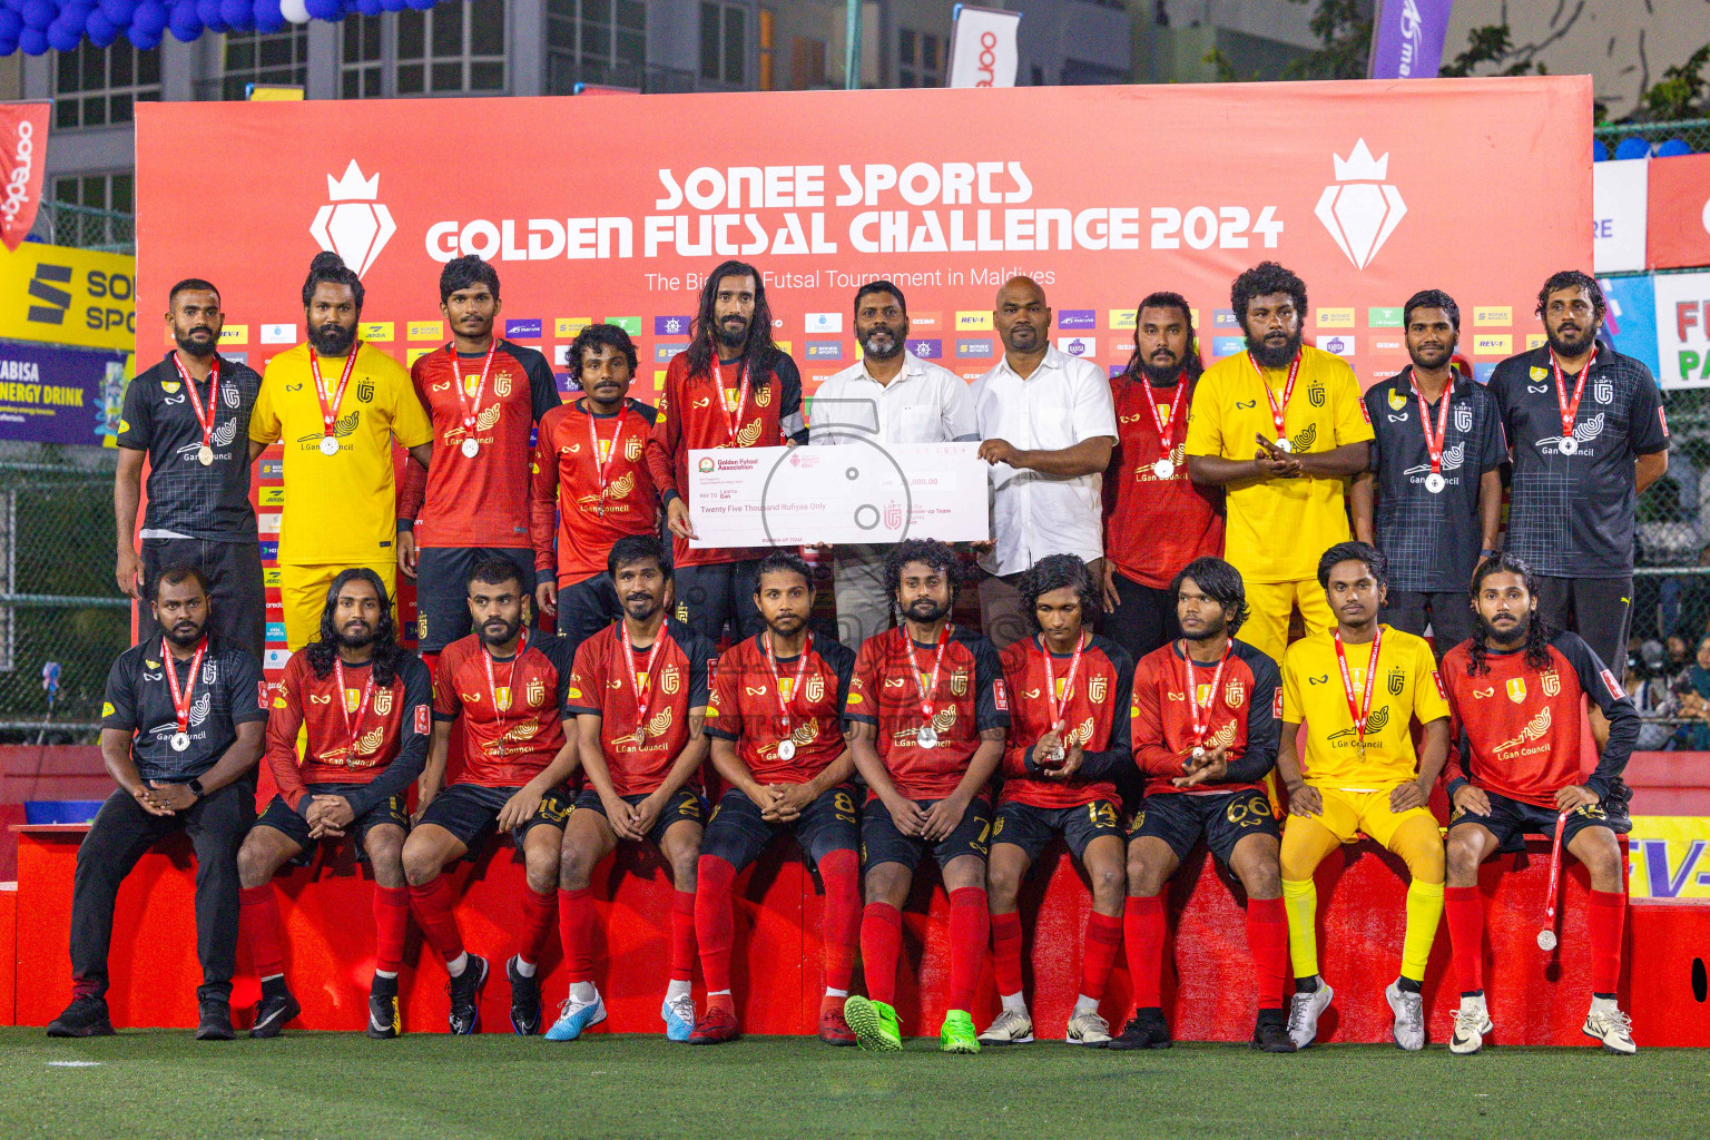
<instances>
[{"instance_id":1,"label":"standing bearded man in yellow kit with tied-up hair, on the left","mask_svg":"<svg viewBox=\"0 0 1710 1140\"><path fill-rule=\"evenodd\" d=\"M286 509L279 596L286 643L320 632L327 586L366 566L393 593L398 579L392 444L428 467L433 424L397 361L357 337L363 279L337 253L316 253L303 280L308 342L267 362L250 415L250 461L284 441Z\"/></svg>"}]
</instances>

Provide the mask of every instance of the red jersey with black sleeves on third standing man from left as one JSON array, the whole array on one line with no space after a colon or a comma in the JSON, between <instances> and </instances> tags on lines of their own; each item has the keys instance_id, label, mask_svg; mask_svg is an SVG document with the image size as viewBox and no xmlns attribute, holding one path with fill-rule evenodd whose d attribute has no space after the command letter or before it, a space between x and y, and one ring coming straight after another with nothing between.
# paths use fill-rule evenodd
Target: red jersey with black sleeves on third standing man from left
<instances>
[{"instance_id":1,"label":"red jersey with black sleeves on third standing man from left","mask_svg":"<svg viewBox=\"0 0 1710 1140\"><path fill-rule=\"evenodd\" d=\"M492 371L481 391L475 427L463 427L474 407L487 354L463 356L434 349L410 367L410 383L433 420L433 465L405 463L402 518L416 518L416 545L528 545L528 456L535 422L559 405L552 366L534 349L499 340ZM458 402L462 385L462 402ZM474 438L481 450L462 451ZM426 479L426 502L422 482Z\"/></svg>"}]
</instances>

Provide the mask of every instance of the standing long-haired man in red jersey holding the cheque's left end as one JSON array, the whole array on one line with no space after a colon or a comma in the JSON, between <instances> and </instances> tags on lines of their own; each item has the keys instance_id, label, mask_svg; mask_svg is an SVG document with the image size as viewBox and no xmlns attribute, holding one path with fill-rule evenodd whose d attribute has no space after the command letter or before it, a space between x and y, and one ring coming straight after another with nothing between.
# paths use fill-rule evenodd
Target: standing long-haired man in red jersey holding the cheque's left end
<instances>
[{"instance_id":1,"label":"standing long-haired man in red jersey holding the cheque's left end","mask_svg":"<svg viewBox=\"0 0 1710 1140\"><path fill-rule=\"evenodd\" d=\"M694 514L682 497L689 491L689 451L805 441L802 374L771 340L766 284L752 265L723 261L701 289L689 347L665 369L646 448L672 533L677 620L715 646L727 624L737 638L751 638L764 626L754 608L754 571L766 552L689 545L696 537Z\"/></svg>"}]
</instances>

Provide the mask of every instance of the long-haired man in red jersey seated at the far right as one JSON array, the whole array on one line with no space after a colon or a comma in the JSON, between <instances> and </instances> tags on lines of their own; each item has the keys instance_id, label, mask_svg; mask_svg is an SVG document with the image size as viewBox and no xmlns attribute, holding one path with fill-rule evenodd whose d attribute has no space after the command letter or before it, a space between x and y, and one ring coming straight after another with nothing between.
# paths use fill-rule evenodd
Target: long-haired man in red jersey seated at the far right
<instances>
[{"instance_id":1,"label":"long-haired man in red jersey seated at the far right","mask_svg":"<svg viewBox=\"0 0 1710 1140\"><path fill-rule=\"evenodd\" d=\"M1460 728L1448 769L1448 885L1443 909L1460 1010L1450 1053L1477 1053L1491 1032L1484 1005L1484 901L1479 865L1524 849L1529 832L1554 834L1590 872L1592 1007L1583 1032L1609 1053L1633 1053L1631 1022L1616 1005L1626 875L1604 803L1638 740L1638 713L1614 673L1580 639L1539 614L1539 581L1513 554L1484 559L1472 576L1479 636L1448 651L1443 677ZM1580 708L1609 721L1590 776L1580 776Z\"/></svg>"}]
</instances>

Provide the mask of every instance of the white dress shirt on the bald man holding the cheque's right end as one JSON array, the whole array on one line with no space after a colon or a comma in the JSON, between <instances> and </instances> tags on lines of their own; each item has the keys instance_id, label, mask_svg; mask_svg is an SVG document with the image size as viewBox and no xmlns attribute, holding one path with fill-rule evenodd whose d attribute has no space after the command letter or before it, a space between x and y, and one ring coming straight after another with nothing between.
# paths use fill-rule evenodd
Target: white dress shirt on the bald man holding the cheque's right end
<instances>
[{"instance_id":1,"label":"white dress shirt on the bald man holding the cheque's right end","mask_svg":"<svg viewBox=\"0 0 1710 1140\"><path fill-rule=\"evenodd\" d=\"M1117 408L1105 371L1086 359L1047 349L1023 379L1009 359L973 383L982 439L1005 439L1017 451L1062 451L1086 439L1117 438ZM1009 463L992 465L992 537L980 557L994 574L1029 569L1048 554L1105 555L1103 475L1043 475Z\"/></svg>"}]
</instances>

